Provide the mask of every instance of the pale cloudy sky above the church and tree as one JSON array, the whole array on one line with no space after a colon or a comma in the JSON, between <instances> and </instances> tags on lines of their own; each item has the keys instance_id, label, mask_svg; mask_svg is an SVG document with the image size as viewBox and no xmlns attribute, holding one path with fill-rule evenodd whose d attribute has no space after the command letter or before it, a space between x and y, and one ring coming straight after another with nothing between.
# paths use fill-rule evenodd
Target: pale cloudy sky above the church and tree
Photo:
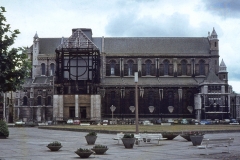
<instances>
[{"instance_id":1,"label":"pale cloudy sky above the church and tree","mask_svg":"<svg viewBox=\"0 0 240 160\"><path fill-rule=\"evenodd\" d=\"M239 0L1 0L7 23L21 34L15 47L40 38L69 37L91 28L94 37L207 37L215 28L229 84L240 93Z\"/></svg>"}]
</instances>

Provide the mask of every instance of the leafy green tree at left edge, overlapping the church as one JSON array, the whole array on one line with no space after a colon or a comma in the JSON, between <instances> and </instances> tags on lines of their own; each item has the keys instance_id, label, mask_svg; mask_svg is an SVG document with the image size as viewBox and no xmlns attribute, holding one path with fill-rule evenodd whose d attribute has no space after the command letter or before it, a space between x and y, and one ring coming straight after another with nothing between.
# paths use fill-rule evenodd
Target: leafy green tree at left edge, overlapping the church
<instances>
[{"instance_id":1,"label":"leafy green tree at left edge, overlapping the church","mask_svg":"<svg viewBox=\"0 0 240 160\"><path fill-rule=\"evenodd\" d=\"M0 92L16 91L21 88L24 79L29 77L31 63L23 47L10 48L19 30L10 30L6 24L4 7L0 7Z\"/></svg>"}]
</instances>

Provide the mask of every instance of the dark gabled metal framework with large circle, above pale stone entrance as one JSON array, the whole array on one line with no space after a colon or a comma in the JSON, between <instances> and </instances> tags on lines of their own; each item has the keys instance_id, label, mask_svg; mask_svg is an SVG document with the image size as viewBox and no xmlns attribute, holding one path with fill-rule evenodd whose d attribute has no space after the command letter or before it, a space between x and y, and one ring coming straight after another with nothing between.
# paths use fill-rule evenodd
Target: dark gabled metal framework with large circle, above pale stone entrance
<instances>
[{"instance_id":1,"label":"dark gabled metal framework with large circle, above pale stone entrance","mask_svg":"<svg viewBox=\"0 0 240 160\"><path fill-rule=\"evenodd\" d=\"M100 83L100 51L77 29L56 52L56 94L96 94Z\"/></svg>"}]
</instances>

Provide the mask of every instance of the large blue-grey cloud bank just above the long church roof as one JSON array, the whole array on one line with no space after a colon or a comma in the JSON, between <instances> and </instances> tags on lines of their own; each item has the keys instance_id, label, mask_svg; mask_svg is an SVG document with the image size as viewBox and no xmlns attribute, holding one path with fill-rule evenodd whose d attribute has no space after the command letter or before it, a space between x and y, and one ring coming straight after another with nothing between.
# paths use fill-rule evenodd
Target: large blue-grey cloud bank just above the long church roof
<instances>
[{"instance_id":1,"label":"large blue-grey cloud bank just above the long church roof","mask_svg":"<svg viewBox=\"0 0 240 160\"><path fill-rule=\"evenodd\" d=\"M137 11L124 11L113 15L105 27L108 36L135 37L207 37L216 23L201 22L199 26L190 24L187 14L175 12L171 15L139 16ZM219 32L221 29L219 29Z\"/></svg>"}]
</instances>

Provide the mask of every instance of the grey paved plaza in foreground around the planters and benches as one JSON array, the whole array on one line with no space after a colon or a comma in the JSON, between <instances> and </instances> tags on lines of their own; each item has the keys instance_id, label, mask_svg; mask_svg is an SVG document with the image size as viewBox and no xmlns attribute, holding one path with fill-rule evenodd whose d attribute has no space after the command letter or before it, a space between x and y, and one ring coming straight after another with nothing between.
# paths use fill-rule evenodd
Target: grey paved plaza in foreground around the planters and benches
<instances>
[{"instance_id":1,"label":"grey paved plaza in foreground around the planters and benches","mask_svg":"<svg viewBox=\"0 0 240 160\"><path fill-rule=\"evenodd\" d=\"M92 148L85 140L86 132L59 131L38 129L37 127L10 127L8 139L0 139L0 160L68 160L81 159L74 151L77 148ZM191 142L178 136L173 140L165 140L158 146L156 141L125 149L123 144L113 140L115 134L98 133L96 144L107 145L109 150L104 155L91 155L89 159L104 160L202 160L225 159L240 160L240 133L206 134L205 138L229 138L235 140L230 147L231 154L222 153L226 147L209 150L197 149ZM48 143L60 141L63 147L58 152L51 152Z\"/></svg>"}]
</instances>

